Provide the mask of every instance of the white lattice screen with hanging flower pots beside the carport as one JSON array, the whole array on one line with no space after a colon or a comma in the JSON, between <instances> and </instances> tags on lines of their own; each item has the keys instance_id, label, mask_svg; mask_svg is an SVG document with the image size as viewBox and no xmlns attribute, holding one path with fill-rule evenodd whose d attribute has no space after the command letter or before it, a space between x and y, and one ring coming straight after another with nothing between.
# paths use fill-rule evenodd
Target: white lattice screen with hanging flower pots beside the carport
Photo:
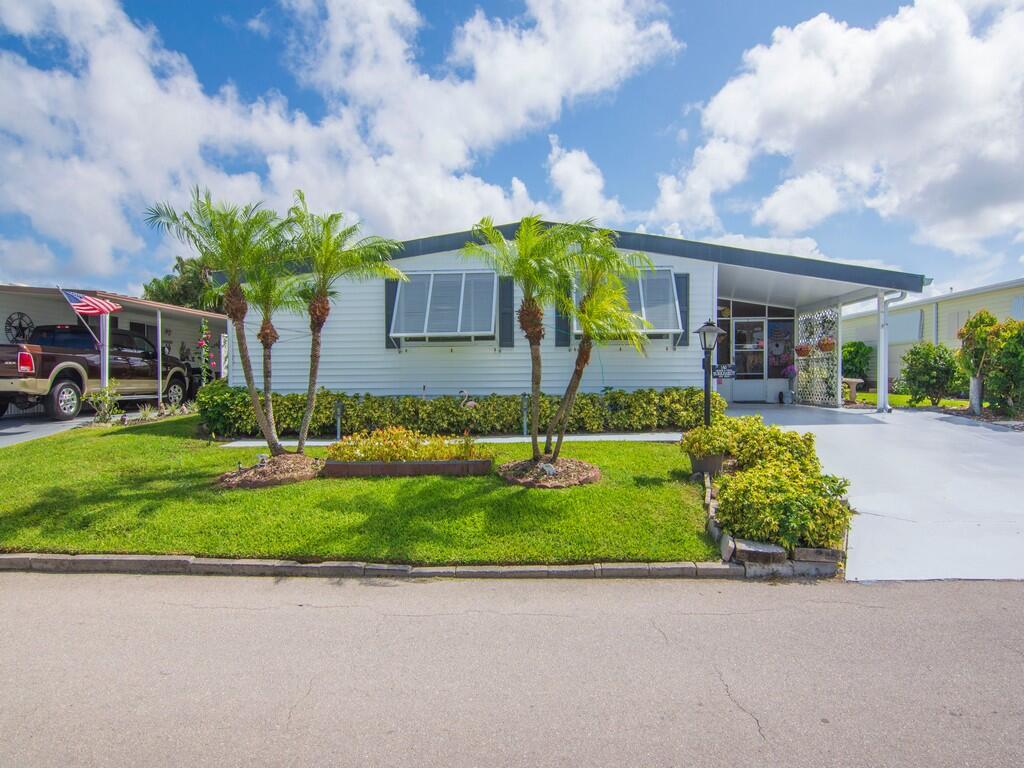
<instances>
[{"instance_id":1,"label":"white lattice screen with hanging flower pots beside the carport","mask_svg":"<svg viewBox=\"0 0 1024 768\"><path fill-rule=\"evenodd\" d=\"M810 347L806 357L797 355L797 402L806 406L840 407L839 373L843 354L840 348L840 308L838 306L798 312L796 346ZM828 346L828 340L833 348Z\"/></svg>"}]
</instances>

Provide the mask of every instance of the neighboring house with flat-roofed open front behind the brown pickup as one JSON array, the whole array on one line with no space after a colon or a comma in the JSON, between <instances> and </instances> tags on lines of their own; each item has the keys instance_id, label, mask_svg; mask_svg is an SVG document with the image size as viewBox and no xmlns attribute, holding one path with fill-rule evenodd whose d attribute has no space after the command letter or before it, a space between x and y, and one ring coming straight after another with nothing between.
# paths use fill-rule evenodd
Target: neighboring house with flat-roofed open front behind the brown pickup
<instances>
[{"instance_id":1,"label":"neighboring house with flat-roofed open front behind the brown pickup","mask_svg":"<svg viewBox=\"0 0 1024 768\"><path fill-rule=\"evenodd\" d=\"M173 355L189 362L197 371L200 357L196 342L205 319L211 333L214 359L218 360L219 368L222 367L221 338L227 332L227 318L224 315L123 296L111 291L73 290L120 304L120 311L108 315L112 331L133 331L147 338L155 347L158 346L159 338L161 343L158 349L161 354ZM0 285L0 322L3 323L4 334L0 343L6 344L25 341L38 326L77 325L80 319L56 288ZM98 336L99 318L88 316L85 322Z\"/></svg>"}]
</instances>

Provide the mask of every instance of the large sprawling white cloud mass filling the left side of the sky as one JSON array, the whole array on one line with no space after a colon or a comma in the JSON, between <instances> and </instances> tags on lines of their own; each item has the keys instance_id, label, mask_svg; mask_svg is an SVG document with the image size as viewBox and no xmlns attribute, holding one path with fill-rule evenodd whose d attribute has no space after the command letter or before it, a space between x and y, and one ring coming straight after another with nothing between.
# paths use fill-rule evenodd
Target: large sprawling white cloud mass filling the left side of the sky
<instances>
[{"instance_id":1,"label":"large sprawling white cloud mass filling the left side of the sky","mask_svg":"<svg viewBox=\"0 0 1024 768\"><path fill-rule=\"evenodd\" d=\"M0 103L19 105L0 111L0 214L67 248L71 272L123 283L155 266L140 257L143 209L181 205L196 183L279 209L302 187L316 208L399 238L513 219L543 204L519 179L474 175L476 157L679 48L649 0L529 0L514 19L477 11L435 75L416 60L422 19L410 0L287 0L286 13L299 28L296 72L328 103L316 122L272 93L205 91L188 60L115 0L0 0L0 31L68 52L44 69L0 51ZM265 167L229 172L219 160L234 158ZM600 182L574 154L558 168L572 163L565 202L594 194L595 173ZM617 204L604 205L611 215Z\"/></svg>"}]
</instances>

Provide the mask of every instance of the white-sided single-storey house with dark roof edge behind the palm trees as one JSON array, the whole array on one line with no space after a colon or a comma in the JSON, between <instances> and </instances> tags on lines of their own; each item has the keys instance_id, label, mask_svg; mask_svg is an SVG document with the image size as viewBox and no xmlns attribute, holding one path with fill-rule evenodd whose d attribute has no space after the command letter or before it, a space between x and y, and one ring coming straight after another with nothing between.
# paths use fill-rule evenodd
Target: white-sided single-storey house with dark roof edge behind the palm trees
<instances>
[{"instance_id":1,"label":"white-sided single-storey house with dark roof edge behind the palm trees","mask_svg":"<svg viewBox=\"0 0 1024 768\"><path fill-rule=\"evenodd\" d=\"M507 238L515 228L501 227ZM783 372L795 345L836 341L843 305L891 292L920 293L926 283L920 274L835 261L640 232L617 236L622 250L646 254L654 267L628 287L631 307L651 325L649 344L642 356L624 344L595 349L583 391L701 386L694 331L711 318L726 331L716 352L718 390L732 401L777 402L790 391ZM528 347L515 316L519 291L461 256L472 237L461 231L404 242L395 263L408 283L342 284L324 330L319 384L382 395L528 391ZM551 308L545 323L544 388L560 392L572 370L575 336ZM273 347L274 389L305 391L308 321L282 315L274 324L281 334ZM250 312L254 356L258 325ZM797 398L837 406L839 352L814 349L797 362ZM258 381L260 367L253 368ZM244 383L238 365L230 366L229 382Z\"/></svg>"}]
</instances>

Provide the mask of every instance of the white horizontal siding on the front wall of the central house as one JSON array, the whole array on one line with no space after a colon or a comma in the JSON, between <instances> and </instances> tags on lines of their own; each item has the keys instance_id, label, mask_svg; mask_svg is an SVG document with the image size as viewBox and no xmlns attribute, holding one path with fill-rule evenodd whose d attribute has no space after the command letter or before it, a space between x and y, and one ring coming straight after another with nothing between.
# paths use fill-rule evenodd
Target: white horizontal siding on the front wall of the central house
<instances>
[{"instance_id":1,"label":"white horizontal siding on the front wall of the central house","mask_svg":"<svg viewBox=\"0 0 1024 768\"><path fill-rule=\"evenodd\" d=\"M629 347L608 345L595 349L584 375L584 391L603 387L639 389L668 386L701 386L700 346L692 331L713 314L714 264L650 254L657 266L690 275L690 345L673 347L670 339L651 340L646 356ZM402 269L464 268L457 252L427 254L396 261ZM515 306L520 294L516 291ZM544 390L559 392L572 371L575 352L555 346L554 311L545 312ZM262 385L261 347L256 341L259 319L247 319L249 353ZM309 326L304 316L274 319L281 340L273 347L273 388L281 392L305 391L309 366ZM232 340L233 341L233 340ZM231 384L244 383L238 350L232 346ZM515 346L500 348L498 341L461 344L404 344L384 346L384 282L345 283L324 329L324 350L318 384L328 389L373 394L515 394L529 391L529 347L515 328Z\"/></svg>"}]
</instances>

